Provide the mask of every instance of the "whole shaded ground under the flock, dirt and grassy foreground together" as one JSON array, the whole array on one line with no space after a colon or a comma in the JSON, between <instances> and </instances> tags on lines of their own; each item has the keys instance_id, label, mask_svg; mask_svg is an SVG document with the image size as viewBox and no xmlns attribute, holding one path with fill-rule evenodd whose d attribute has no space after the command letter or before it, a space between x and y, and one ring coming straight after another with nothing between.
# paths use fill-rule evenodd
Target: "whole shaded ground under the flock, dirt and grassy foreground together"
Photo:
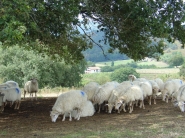
<instances>
[{"instance_id":1,"label":"whole shaded ground under the flock, dirt and grassy foreground together","mask_svg":"<svg viewBox=\"0 0 185 138\"><path fill-rule=\"evenodd\" d=\"M164 103L161 99L157 99L156 105L145 103L145 110L135 107L132 114L102 112L72 122L68 118L62 122L60 116L56 123L52 123L49 111L55 100L22 100L19 111L6 107L0 114L0 137L185 137L185 114L173 107L172 103Z\"/></svg>"}]
</instances>

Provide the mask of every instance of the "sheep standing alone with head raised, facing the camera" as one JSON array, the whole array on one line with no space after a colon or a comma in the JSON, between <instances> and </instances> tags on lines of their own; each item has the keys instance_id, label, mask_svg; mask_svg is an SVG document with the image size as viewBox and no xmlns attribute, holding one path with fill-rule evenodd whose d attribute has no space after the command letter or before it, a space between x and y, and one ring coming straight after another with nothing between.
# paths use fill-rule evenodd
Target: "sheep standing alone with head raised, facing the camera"
<instances>
[{"instance_id":1,"label":"sheep standing alone with head raised, facing the camera","mask_svg":"<svg viewBox=\"0 0 185 138\"><path fill-rule=\"evenodd\" d=\"M27 81L24 85L24 99L26 92L30 93L31 100L33 100L33 93L35 93L35 99L37 100L37 92L38 92L38 81L33 78L30 81Z\"/></svg>"}]
</instances>

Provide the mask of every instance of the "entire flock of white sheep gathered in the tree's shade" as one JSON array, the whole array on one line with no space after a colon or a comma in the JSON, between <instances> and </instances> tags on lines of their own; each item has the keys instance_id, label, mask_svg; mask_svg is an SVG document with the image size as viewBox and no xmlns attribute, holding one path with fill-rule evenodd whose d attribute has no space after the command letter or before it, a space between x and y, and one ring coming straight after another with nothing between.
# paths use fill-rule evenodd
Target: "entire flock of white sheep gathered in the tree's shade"
<instances>
[{"instance_id":1,"label":"entire flock of white sheep gathered in the tree's shade","mask_svg":"<svg viewBox=\"0 0 185 138\"><path fill-rule=\"evenodd\" d=\"M163 82L160 78L147 80L145 78L136 78L134 75L128 76L128 81L118 83L116 81L107 82L99 85L97 82L86 84L82 90L71 90L59 95L56 99L50 117L52 122L56 122L59 115L63 115L62 121L69 117L79 120L80 117L93 116L97 110L106 110L111 113L117 110L120 113L132 113L134 106L145 109L144 100L148 104L156 104L156 98L162 95L162 100L168 103L171 99L175 106L179 106L184 112L185 84L180 79L171 79ZM33 100L33 93L37 99L38 92L37 79L31 79L25 83L24 98L26 92L30 93ZM0 106L1 111L10 102L12 106L15 102L15 108L19 109L21 103L21 90L15 81L7 81L0 84Z\"/></svg>"}]
</instances>

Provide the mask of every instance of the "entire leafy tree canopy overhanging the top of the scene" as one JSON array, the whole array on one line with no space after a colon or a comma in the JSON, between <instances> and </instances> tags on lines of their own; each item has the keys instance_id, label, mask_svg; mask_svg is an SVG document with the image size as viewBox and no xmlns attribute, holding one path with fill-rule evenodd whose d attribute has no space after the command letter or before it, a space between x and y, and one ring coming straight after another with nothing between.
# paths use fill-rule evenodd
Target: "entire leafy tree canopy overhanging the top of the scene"
<instances>
[{"instance_id":1,"label":"entire leafy tree canopy overhanging the top of the scene","mask_svg":"<svg viewBox=\"0 0 185 138\"><path fill-rule=\"evenodd\" d=\"M81 52L91 48L92 39L82 27L88 28L91 21L104 32L102 41L110 44L110 53L118 49L134 60L159 58L164 45L161 41L150 45L152 39L185 43L184 10L183 0L4 0L0 41L4 47L29 43L27 49L79 61ZM36 45L36 40L43 45Z\"/></svg>"}]
</instances>

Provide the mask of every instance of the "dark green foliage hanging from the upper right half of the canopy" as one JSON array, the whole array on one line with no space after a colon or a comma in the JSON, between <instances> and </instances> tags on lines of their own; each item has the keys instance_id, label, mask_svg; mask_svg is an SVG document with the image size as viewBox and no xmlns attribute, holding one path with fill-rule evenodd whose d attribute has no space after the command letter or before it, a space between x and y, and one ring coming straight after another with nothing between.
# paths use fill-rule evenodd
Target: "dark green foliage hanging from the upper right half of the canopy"
<instances>
[{"instance_id":1,"label":"dark green foliage hanging from the upper right half of the canopy","mask_svg":"<svg viewBox=\"0 0 185 138\"><path fill-rule=\"evenodd\" d=\"M171 41L173 37L185 42L185 32L181 26L185 20L183 1L118 0L105 3L91 0L83 6L83 16L96 19L98 31L105 33L102 41L110 44L109 52L118 49L134 60L144 57L158 59L165 45L158 41L149 46L152 38L170 38L168 40Z\"/></svg>"}]
</instances>

